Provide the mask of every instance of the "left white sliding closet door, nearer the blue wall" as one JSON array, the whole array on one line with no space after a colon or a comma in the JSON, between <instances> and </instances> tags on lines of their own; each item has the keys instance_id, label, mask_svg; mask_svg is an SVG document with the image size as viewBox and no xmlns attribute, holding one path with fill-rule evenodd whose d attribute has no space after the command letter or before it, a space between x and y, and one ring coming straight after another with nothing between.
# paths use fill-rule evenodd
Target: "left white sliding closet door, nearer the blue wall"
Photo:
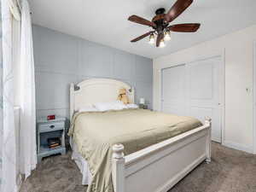
<instances>
[{"instance_id":1,"label":"left white sliding closet door, nearer the blue wall","mask_svg":"<svg viewBox=\"0 0 256 192\"><path fill-rule=\"evenodd\" d=\"M170 67L162 71L162 111L184 115L185 106L185 65Z\"/></svg>"}]
</instances>

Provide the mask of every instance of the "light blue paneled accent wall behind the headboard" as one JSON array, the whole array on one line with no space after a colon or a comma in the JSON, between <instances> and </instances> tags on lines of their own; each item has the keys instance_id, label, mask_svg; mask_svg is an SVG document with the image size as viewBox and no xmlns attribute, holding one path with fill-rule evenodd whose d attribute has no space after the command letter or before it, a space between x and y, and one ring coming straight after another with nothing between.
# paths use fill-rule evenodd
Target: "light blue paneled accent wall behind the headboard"
<instances>
[{"instance_id":1,"label":"light blue paneled accent wall behind the headboard","mask_svg":"<svg viewBox=\"0 0 256 192\"><path fill-rule=\"evenodd\" d=\"M69 116L69 84L119 79L152 106L153 61L42 26L33 26L37 117Z\"/></svg>"}]
</instances>

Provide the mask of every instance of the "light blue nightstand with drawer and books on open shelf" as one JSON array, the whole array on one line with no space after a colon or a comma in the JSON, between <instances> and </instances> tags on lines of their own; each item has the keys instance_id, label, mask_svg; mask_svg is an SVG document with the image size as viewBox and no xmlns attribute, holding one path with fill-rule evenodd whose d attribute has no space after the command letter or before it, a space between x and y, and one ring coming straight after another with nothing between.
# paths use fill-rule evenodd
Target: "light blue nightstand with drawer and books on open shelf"
<instances>
[{"instance_id":1,"label":"light blue nightstand with drawer and books on open shelf","mask_svg":"<svg viewBox=\"0 0 256 192\"><path fill-rule=\"evenodd\" d=\"M65 121L66 118L38 120L38 162L52 154L66 154Z\"/></svg>"}]
</instances>

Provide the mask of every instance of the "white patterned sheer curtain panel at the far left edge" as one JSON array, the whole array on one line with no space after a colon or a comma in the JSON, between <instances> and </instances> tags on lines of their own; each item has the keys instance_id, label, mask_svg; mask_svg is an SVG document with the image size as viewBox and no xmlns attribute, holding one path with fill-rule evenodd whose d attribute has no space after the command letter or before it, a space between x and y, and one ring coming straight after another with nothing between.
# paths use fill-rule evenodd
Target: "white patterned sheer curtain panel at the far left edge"
<instances>
[{"instance_id":1,"label":"white patterned sheer curtain panel at the far left edge","mask_svg":"<svg viewBox=\"0 0 256 192\"><path fill-rule=\"evenodd\" d=\"M2 135L2 178L1 191L15 192L16 184L16 138L15 138L15 112L14 112L14 63L13 63L13 15L10 12L10 3L3 0L2 11L2 47L3 47L3 87L1 91L3 107Z\"/></svg>"}]
</instances>

